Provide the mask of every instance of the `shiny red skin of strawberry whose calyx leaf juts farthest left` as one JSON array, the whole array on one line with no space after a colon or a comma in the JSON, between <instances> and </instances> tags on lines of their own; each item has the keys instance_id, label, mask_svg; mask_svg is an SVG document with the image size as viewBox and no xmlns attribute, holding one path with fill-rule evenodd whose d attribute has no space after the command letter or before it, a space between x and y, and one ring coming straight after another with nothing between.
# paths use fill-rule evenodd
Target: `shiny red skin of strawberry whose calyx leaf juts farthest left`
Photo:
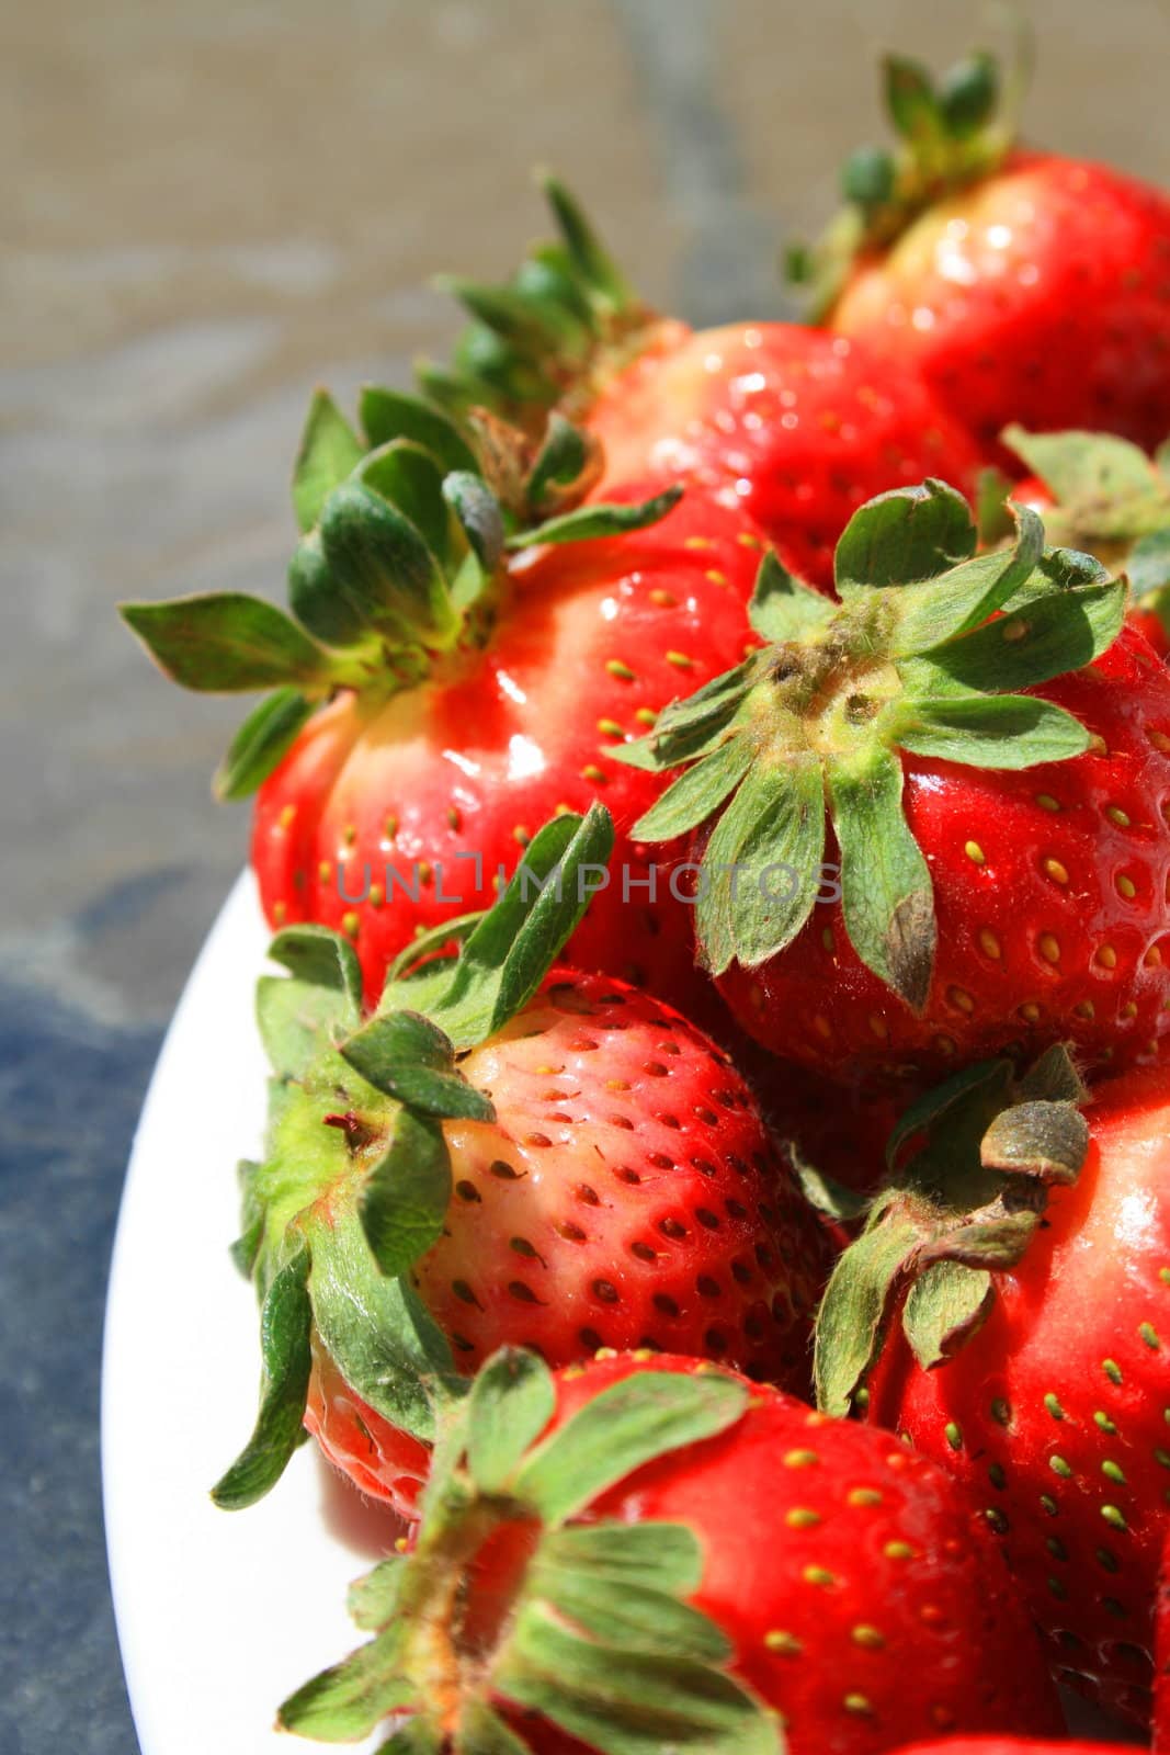
<instances>
[{"instance_id":1,"label":"shiny red skin of strawberry whose calyx leaf juts farthest left","mask_svg":"<svg viewBox=\"0 0 1170 1755\"><path fill-rule=\"evenodd\" d=\"M481 653L384 704L342 693L261 786L253 865L268 921L351 935L375 1000L419 928L488 907L498 867L510 876L544 821L600 800L617 823L612 881L572 960L717 1016L670 890L682 849L656 849L651 895L651 856L628 837L661 781L607 751L738 663L760 558L742 512L693 493L649 530L514 563Z\"/></svg>"}]
</instances>

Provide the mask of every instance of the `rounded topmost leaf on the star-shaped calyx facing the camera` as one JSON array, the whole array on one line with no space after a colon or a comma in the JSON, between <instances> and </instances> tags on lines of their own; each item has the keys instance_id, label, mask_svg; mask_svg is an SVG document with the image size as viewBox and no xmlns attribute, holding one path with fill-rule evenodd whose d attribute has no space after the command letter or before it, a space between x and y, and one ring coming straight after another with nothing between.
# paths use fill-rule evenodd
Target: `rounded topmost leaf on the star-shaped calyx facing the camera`
<instances>
[{"instance_id":1,"label":"rounded topmost leaf on the star-shaped calyx facing the camera","mask_svg":"<svg viewBox=\"0 0 1170 1755\"><path fill-rule=\"evenodd\" d=\"M845 525L833 572L842 602L872 586L933 579L975 553L975 521L961 493L933 477L879 493Z\"/></svg>"}]
</instances>

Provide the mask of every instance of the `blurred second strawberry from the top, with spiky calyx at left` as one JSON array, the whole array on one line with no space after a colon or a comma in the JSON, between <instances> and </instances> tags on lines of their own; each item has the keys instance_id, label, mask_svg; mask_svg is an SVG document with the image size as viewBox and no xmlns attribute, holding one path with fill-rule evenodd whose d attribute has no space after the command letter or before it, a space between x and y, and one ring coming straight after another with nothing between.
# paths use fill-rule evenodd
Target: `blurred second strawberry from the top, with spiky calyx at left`
<instances>
[{"instance_id":1,"label":"blurred second strawberry from the top, with spiky calyx at left","mask_svg":"<svg viewBox=\"0 0 1170 1755\"><path fill-rule=\"evenodd\" d=\"M512 421L561 407L600 441L607 493L684 481L747 509L793 570L828 588L849 514L884 488L974 484L982 453L914 370L793 323L695 332L649 311L584 214L546 184L560 242L507 286L447 279L474 325L424 388Z\"/></svg>"}]
</instances>

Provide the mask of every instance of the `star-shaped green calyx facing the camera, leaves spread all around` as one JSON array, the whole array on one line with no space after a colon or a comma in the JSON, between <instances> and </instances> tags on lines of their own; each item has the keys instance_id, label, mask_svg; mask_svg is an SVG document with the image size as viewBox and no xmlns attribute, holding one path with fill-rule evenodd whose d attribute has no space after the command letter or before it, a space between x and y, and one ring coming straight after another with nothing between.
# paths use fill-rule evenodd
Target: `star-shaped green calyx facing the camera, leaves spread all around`
<instances>
[{"instance_id":1,"label":"star-shaped green calyx facing the camera, leaves spread all around","mask_svg":"<svg viewBox=\"0 0 1170 1755\"><path fill-rule=\"evenodd\" d=\"M823 890L831 823L858 956L926 1006L935 906L902 755L981 769L1082 755L1086 728L1024 691L1091 663L1124 618L1124 584L1086 555L1047 549L1035 512L1012 516L1014 546L975 555L972 511L945 483L879 495L837 546L840 604L765 556L751 620L770 644L610 751L686 769L635 834L710 825L696 930L714 974L791 944Z\"/></svg>"}]
</instances>

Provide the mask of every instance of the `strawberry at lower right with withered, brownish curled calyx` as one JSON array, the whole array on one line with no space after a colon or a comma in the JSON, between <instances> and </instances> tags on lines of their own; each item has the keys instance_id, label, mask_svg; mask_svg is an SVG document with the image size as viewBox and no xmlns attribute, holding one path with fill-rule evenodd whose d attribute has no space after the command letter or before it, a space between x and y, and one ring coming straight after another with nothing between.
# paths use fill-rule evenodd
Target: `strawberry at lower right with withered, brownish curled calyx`
<instances>
[{"instance_id":1,"label":"strawberry at lower right with withered, brownish curled calyx","mask_svg":"<svg viewBox=\"0 0 1170 1755\"><path fill-rule=\"evenodd\" d=\"M1168 1137L1165 1067L1091 1097L1063 1048L956 1074L900 1123L817 1320L821 1404L867 1383L984 1509L1059 1680L1138 1723L1170 1530Z\"/></svg>"}]
</instances>

